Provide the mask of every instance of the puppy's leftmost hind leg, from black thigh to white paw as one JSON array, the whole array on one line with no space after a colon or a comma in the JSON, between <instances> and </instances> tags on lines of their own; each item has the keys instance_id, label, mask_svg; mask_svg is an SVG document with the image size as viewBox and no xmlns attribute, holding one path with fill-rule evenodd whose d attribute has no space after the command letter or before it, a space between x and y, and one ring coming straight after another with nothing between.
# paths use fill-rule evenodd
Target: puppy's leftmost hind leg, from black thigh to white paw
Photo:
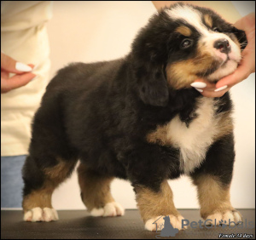
<instances>
[{"instance_id":1,"label":"puppy's leftmost hind leg, from black thigh to white paw","mask_svg":"<svg viewBox=\"0 0 256 240\"><path fill-rule=\"evenodd\" d=\"M26 221L58 219L51 195L73 172L78 161L77 151L67 136L61 100L61 94L46 91L33 119L29 156L22 169Z\"/></svg>"}]
</instances>

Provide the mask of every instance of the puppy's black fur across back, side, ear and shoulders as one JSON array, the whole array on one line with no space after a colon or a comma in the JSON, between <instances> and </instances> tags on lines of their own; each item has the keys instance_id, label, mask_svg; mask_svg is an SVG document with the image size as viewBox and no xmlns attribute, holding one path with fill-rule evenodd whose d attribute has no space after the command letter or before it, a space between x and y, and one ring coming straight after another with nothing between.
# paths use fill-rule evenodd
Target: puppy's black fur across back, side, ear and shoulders
<instances>
[{"instance_id":1,"label":"puppy's black fur across back, side, ear and shoulders","mask_svg":"<svg viewBox=\"0 0 256 240\"><path fill-rule=\"evenodd\" d=\"M235 31L219 17L214 21L224 31ZM172 32L177 24L162 11L139 32L124 59L75 63L58 71L32 123L29 157L23 168L24 195L43 186L43 169L55 166L56 157L79 159L100 174L154 191L162 180L183 174L177 148L145 139L177 114L189 127L196 117L196 100L202 97L195 89L175 90L167 84L166 64L195 54L178 49L182 37ZM218 102L216 114L232 107L228 93ZM229 182L233 148L232 135L219 140L194 174L218 174L224 183ZM224 157L213 157L217 154Z\"/></svg>"}]
</instances>

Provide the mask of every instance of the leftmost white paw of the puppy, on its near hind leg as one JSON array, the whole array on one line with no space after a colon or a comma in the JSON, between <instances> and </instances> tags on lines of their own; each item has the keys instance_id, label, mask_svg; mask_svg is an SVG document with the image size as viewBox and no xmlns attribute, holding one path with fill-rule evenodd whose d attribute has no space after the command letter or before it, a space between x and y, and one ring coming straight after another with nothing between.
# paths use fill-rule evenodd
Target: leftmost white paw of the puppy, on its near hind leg
<instances>
[{"instance_id":1,"label":"leftmost white paw of the puppy, on its near hind leg","mask_svg":"<svg viewBox=\"0 0 256 240\"><path fill-rule=\"evenodd\" d=\"M52 220L59 220L58 214L55 209L49 208L34 208L27 211L24 214L23 220L25 221L52 221Z\"/></svg>"}]
</instances>

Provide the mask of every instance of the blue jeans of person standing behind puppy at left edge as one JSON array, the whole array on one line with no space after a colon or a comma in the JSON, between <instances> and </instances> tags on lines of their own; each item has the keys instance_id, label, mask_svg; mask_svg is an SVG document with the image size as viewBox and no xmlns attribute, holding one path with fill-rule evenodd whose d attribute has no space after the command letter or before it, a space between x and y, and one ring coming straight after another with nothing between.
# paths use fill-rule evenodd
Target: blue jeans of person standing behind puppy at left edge
<instances>
[{"instance_id":1,"label":"blue jeans of person standing behind puppy at left edge","mask_svg":"<svg viewBox=\"0 0 256 240\"><path fill-rule=\"evenodd\" d=\"M1 208L21 208L26 155L1 157Z\"/></svg>"}]
</instances>

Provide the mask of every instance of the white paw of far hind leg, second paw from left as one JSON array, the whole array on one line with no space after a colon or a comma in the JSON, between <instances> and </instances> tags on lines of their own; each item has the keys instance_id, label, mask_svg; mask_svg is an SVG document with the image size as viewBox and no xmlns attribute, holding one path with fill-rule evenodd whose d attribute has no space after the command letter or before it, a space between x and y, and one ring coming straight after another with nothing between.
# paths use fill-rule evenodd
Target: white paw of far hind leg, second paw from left
<instances>
[{"instance_id":1,"label":"white paw of far hind leg, second paw from left","mask_svg":"<svg viewBox=\"0 0 256 240\"><path fill-rule=\"evenodd\" d=\"M107 203L102 209L92 209L90 214L94 217L115 217L125 214L125 209L119 203Z\"/></svg>"}]
</instances>

